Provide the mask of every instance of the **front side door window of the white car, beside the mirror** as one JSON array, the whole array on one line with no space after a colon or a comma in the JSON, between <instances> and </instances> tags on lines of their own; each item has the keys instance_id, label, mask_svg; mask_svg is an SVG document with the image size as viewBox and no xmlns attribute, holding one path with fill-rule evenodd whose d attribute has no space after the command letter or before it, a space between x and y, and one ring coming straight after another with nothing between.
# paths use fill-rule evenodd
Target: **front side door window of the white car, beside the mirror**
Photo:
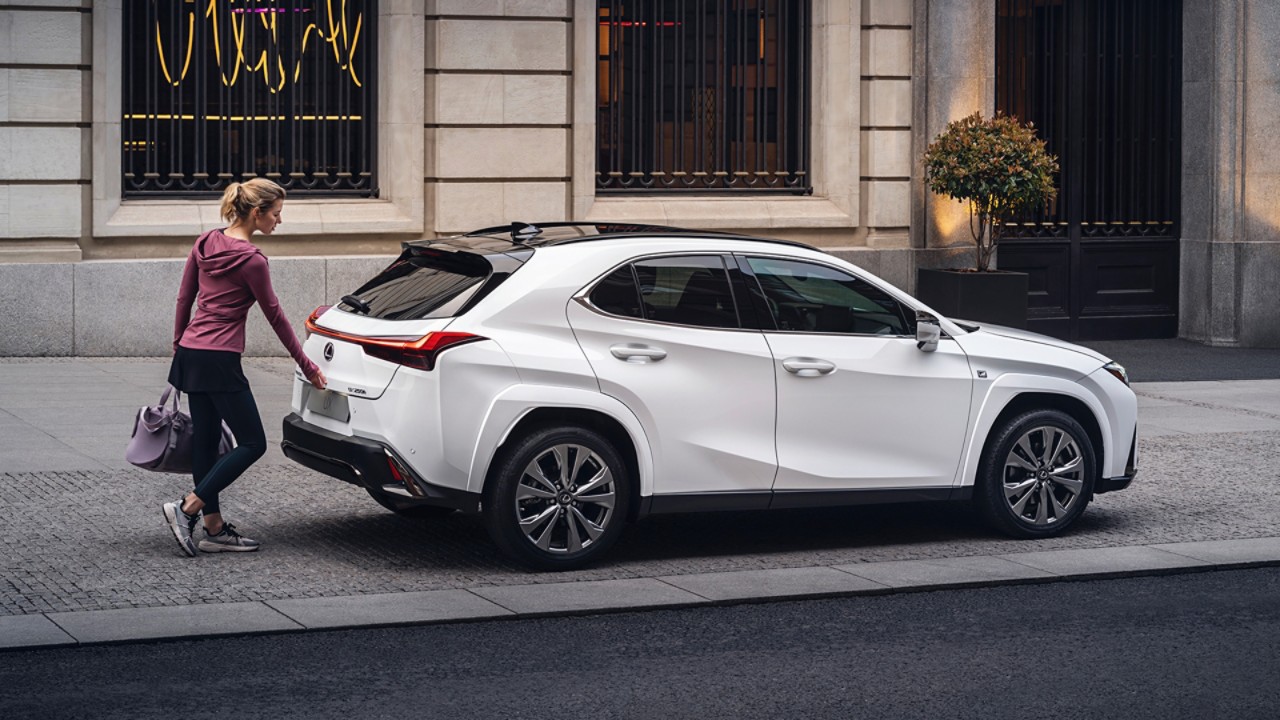
<instances>
[{"instance_id":1,"label":"front side door window of the white car, beside the mirror","mask_svg":"<svg viewBox=\"0 0 1280 720\"><path fill-rule=\"evenodd\" d=\"M906 309L878 287L826 265L748 258L781 331L905 336Z\"/></svg>"}]
</instances>

